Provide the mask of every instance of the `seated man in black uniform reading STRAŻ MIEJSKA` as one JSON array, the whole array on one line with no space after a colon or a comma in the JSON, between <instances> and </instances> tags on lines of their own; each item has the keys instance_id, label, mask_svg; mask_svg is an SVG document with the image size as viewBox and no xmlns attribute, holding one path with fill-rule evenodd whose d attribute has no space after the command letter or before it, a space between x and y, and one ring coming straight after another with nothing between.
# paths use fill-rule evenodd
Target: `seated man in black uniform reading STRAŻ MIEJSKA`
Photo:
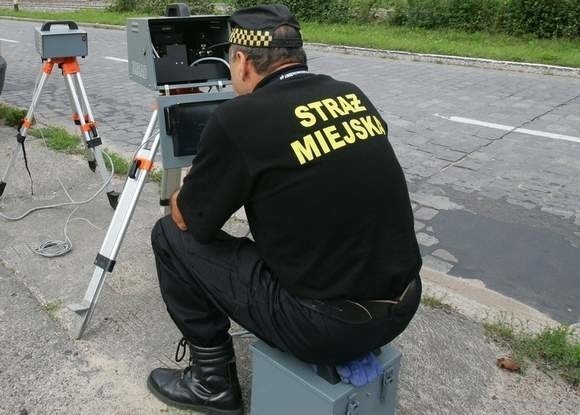
<instances>
[{"instance_id":1,"label":"seated man in black uniform reading STRA\u017b MIEJSKA","mask_svg":"<svg viewBox=\"0 0 580 415\"><path fill-rule=\"evenodd\" d=\"M149 387L219 414L242 413L228 317L306 362L340 364L398 336L421 296L409 194L375 107L355 85L308 72L285 6L240 10L231 26L239 96L208 120L152 232L191 358L155 369ZM241 206L255 242L221 231Z\"/></svg>"}]
</instances>

